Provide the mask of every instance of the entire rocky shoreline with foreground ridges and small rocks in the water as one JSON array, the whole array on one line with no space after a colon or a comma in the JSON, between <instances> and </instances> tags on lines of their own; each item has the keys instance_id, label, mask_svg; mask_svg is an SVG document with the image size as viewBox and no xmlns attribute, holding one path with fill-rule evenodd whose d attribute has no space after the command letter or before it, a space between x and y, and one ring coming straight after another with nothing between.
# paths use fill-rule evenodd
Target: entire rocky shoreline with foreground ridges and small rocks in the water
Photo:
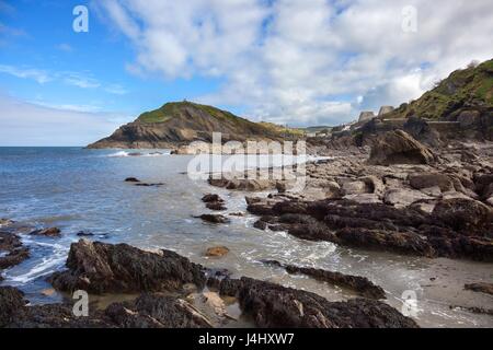
<instances>
[{"instance_id":1,"label":"entire rocky shoreline with foreground ridges and small rocks in the water","mask_svg":"<svg viewBox=\"0 0 493 350\"><path fill-rule=\"evenodd\" d=\"M293 191L287 180L254 176L209 184L263 192L251 194L245 201L248 212L257 217L254 228L267 233L283 231L300 240L395 256L493 261L491 143L455 143L432 151L403 131L390 131L370 148L320 147L319 154L323 151L331 159L306 165L302 191ZM202 201L213 212L227 209L217 194L205 195ZM195 218L213 225L230 222L219 213ZM0 221L0 272L30 256L11 225L9 220ZM50 240L61 235L56 228L25 233ZM228 252L226 246L209 247L206 255L220 258ZM261 262L351 290L358 298L333 302L271 281L231 278L227 270L194 264L171 250L81 240L70 247L67 269L47 281L66 295L84 290L91 295L124 293L133 295L130 300L91 306L88 317L77 317L70 300L31 306L20 290L0 287L0 327L228 327L244 319L256 327L417 327L381 301L387 298L385 285L366 277L283 264L268 256ZM473 281L463 288L490 295L492 283ZM238 310L234 315L231 305ZM491 315L490 305L450 308Z\"/></svg>"}]
</instances>

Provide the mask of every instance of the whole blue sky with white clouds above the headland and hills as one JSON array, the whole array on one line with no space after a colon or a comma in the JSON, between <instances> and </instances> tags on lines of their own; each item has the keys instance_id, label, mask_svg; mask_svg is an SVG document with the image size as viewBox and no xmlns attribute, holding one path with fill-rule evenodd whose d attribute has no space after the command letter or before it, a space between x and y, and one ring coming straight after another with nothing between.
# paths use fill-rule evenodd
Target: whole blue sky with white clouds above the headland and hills
<instances>
[{"instance_id":1,"label":"whole blue sky with white clouds above the headland and hills","mask_svg":"<svg viewBox=\"0 0 493 350\"><path fill-rule=\"evenodd\" d=\"M491 0L0 0L0 145L84 145L183 100L339 125L492 43Z\"/></svg>"}]
</instances>

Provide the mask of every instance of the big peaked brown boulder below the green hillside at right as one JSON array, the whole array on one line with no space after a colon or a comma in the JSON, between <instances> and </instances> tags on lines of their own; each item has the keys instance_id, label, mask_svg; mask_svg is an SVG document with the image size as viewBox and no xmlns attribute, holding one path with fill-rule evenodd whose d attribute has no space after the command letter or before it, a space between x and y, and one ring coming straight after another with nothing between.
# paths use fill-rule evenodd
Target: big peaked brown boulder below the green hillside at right
<instances>
[{"instance_id":1,"label":"big peaked brown boulder below the green hillside at right","mask_svg":"<svg viewBox=\"0 0 493 350\"><path fill-rule=\"evenodd\" d=\"M431 164L432 151L402 130L386 132L371 147L369 164Z\"/></svg>"}]
</instances>

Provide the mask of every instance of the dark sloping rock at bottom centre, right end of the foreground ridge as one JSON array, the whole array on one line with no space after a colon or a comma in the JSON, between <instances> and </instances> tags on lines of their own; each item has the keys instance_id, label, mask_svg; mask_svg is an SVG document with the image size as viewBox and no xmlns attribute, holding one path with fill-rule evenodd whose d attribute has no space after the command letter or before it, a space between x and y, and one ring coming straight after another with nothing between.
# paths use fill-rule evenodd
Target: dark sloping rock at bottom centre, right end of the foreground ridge
<instances>
[{"instance_id":1,"label":"dark sloping rock at bottom centre, right end of the foreground ridge","mask_svg":"<svg viewBox=\"0 0 493 350\"><path fill-rule=\"evenodd\" d=\"M238 295L243 314L261 328L417 328L414 320L375 300L329 302L314 293L244 277L220 284L220 293Z\"/></svg>"}]
</instances>

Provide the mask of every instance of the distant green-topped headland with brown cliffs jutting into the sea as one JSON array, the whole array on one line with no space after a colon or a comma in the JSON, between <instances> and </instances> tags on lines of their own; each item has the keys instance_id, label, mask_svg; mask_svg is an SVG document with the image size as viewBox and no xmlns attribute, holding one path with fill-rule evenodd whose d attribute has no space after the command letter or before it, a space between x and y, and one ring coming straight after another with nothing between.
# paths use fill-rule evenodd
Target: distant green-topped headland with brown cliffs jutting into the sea
<instances>
[{"instance_id":1,"label":"distant green-topped headland with brown cliffs jutting into the sea","mask_svg":"<svg viewBox=\"0 0 493 350\"><path fill-rule=\"evenodd\" d=\"M192 141L210 142L213 132L222 141L278 140L282 133L229 112L192 102L167 103L119 127L112 136L88 148L174 148Z\"/></svg>"}]
</instances>

